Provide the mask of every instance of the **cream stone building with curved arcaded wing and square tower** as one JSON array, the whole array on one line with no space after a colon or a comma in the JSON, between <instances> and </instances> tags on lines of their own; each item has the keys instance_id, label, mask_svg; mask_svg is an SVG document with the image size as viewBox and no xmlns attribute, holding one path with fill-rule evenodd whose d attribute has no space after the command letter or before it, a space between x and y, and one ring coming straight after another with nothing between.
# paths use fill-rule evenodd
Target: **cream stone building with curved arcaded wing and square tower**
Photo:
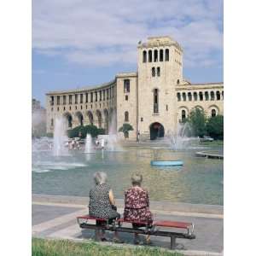
<instances>
[{"instance_id":1,"label":"cream stone building with curved arcaded wing and square tower","mask_svg":"<svg viewBox=\"0 0 256 256\"><path fill-rule=\"evenodd\" d=\"M223 114L224 84L191 84L183 79L183 49L170 37L148 38L137 45L137 72L118 73L113 81L77 90L51 91L47 96L47 131L63 116L67 129L93 124L107 133L124 123L144 139L177 133L192 108L207 116ZM119 134L123 137L123 134Z\"/></svg>"}]
</instances>

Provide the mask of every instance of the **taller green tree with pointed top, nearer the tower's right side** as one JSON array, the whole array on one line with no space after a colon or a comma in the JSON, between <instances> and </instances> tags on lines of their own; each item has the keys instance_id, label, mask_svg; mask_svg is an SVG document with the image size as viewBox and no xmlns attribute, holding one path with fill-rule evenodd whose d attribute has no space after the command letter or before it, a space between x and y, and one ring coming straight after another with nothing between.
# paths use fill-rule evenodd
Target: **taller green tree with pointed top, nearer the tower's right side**
<instances>
[{"instance_id":1,"label":"taller green tree with pointed top, nearer the tower's right side","mask_svg":"<svg viewBox=\"0 0 256 256\"><path fill-rule=\"evenodd\" d=\"M196 137L203 137L207 134L206 122L207 117L201 108L193 108L189 113L189 125Z\"/></svg>"}]
</instances>

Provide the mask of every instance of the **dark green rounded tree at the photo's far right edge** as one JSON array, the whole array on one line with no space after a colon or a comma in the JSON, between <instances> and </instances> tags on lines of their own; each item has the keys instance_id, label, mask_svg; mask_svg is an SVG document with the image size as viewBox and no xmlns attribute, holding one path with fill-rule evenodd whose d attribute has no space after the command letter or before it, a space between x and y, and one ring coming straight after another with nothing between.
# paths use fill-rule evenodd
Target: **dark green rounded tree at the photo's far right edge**
<instances>
[{"instance_id":1,"label":"dark green rounded tree at the photo's far right edge","mask_svg":"<svg viewBox=\"0 0 256 256\"><path fill-rule=\"evenodd\" d=\"M214 139L223 140L224 137L224 116L217 115L207 119L207 133Z\"/></svg>"}]
</instances>

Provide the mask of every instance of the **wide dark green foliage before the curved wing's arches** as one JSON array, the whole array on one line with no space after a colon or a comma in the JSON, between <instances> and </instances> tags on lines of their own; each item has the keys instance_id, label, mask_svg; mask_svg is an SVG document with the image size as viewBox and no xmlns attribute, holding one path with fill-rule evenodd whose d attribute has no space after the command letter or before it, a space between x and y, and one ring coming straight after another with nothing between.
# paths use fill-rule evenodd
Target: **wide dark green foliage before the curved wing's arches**
<instances>
[{"instance_id":1,"label":"wide dark green foliage before the curved wing's arches","mask_svg":"<svg viewBox=\"0 0 256 256\"><path fill-rule=\"evenodd\" d=\"M72 130L68 130L67 136L85 138L87 133L90 133L92 137L96 137L99 134L104 134L105 131L102 128L98 129L96 125L79 125Z\"/></svg>"}]
</instances>

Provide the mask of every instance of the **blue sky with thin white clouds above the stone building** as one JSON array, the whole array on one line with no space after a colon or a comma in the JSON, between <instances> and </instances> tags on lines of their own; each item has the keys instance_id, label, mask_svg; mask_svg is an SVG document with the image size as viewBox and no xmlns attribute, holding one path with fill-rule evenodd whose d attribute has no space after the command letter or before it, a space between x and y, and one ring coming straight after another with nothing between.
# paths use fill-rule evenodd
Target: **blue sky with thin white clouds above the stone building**
<instances>
[{"instance_id":1,"label":"blue sky with thin white clouds above the stone building","mask_svg":"<svg viewBox=\"0 0 256 256\"><path fill-rule=\"evenodd\" d=\"M32 97L137 71L137 43L169 35L183 47L183 78L223 81L223 1L33 0Z\"/></svg>"}]
</instances>

